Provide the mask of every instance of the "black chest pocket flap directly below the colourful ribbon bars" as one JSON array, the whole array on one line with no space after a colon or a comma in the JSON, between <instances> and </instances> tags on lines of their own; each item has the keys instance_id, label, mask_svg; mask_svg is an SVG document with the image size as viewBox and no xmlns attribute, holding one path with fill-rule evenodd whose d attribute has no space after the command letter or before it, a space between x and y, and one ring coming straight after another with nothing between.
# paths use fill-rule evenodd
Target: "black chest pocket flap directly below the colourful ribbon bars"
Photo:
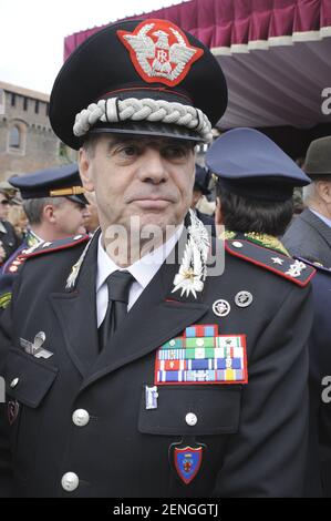
<instances>
[{"instance_id":1,"label":"black chest pocket flap directly below the colourful ribbon bars","mask_svg":"<svg viewBox=\"0 0 331 521\"><path fill-rule=\"evenodd\" d=\"M241 386L168 386L158 387L157 392L157 408L147 410L143 390L138 420L142 433L196 437L238 430Z\"/></svg>"}]
</instances>

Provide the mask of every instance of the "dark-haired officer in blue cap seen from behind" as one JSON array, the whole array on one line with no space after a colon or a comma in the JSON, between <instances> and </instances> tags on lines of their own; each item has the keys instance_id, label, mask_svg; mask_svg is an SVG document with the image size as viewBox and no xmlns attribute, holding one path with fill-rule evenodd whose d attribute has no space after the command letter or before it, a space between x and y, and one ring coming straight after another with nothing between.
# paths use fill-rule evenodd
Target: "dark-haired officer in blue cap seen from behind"
<instances>
[{"instance_id":1,"label":"dark-haired officer in blue cap seen from behind","mask_svg":"<svg viewBox=\"0 0 331 521\"><path fill-rule=\"evenodd\" d=\"M279 237L292 218L293 187L307 184L307 175L254 129L223 134L208 151L206 163L218 176L216 223L226 226L225 235L270 248L275 252L270 265L283 263L282 256L289 254ZM308 262L298 258L297 263L304 266ZM329 401L322 399L323 394L327 396L322 381L331 375L331 353L325 341L331 334L331 272L310 264L318 274L312 279L314 318L309 339L310 429L304 494L330 497L331 421Z\"/></svg>"}]
</instances>

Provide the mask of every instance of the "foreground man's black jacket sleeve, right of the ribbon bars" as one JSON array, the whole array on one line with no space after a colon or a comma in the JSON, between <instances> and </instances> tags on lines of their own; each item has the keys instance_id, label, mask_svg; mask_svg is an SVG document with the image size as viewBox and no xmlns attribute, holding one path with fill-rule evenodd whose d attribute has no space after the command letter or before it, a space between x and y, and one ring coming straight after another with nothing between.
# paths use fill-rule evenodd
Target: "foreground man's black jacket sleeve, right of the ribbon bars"
<instances>
[{"instance_id":1,"label":"foreground man's black jacket sleeve, right of the ribbon bars","mask_svg":"<svg viewBox=\"0 0 331 521\"><path fill-rule=\"evenodd\" d=\"M249 382L242 388L240 425L237 435L229 438L216 497L303 493L310 293L310 287L291 288L252 349Z\"/></svg>"}]
</instances>

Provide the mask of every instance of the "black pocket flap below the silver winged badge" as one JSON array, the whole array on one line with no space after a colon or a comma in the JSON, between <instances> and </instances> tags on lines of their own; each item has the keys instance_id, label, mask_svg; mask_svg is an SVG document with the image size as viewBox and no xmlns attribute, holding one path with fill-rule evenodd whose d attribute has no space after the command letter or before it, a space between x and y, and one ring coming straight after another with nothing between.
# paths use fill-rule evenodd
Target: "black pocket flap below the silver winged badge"
<instances>
[{"instance_id":1,"label":"black pocket flap below the silver winged badge","mask_svg":"<svg viewBox=\"0 0 331 521\"><path fill-rule=\"evenodd\" d=\"M19 349L10 349L6 365L7 394L21 403L37 408L51 388L58 368ZM11 387L11 384L14 384Z\"/></svg>"}]
</instances>

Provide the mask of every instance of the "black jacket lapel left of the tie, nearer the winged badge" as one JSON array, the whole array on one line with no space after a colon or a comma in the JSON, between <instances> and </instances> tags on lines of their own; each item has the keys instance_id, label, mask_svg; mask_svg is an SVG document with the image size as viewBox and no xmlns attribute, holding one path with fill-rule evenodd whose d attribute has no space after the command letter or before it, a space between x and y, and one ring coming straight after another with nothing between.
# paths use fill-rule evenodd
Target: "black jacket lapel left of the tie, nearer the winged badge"
<instances>
[{"instance_id":1,"label":"black jacket lapel left of the tie, nearer the winged badge","mask_svg":"<svg viewBox=\"0 0 331 521\"><path fill-rule=\"evenodd\" d=\"M90 244L75 289L50 295L68 354L83 377L99 356L95 293L99 236L96 233Z\"/></svg>"}]
</instances>

